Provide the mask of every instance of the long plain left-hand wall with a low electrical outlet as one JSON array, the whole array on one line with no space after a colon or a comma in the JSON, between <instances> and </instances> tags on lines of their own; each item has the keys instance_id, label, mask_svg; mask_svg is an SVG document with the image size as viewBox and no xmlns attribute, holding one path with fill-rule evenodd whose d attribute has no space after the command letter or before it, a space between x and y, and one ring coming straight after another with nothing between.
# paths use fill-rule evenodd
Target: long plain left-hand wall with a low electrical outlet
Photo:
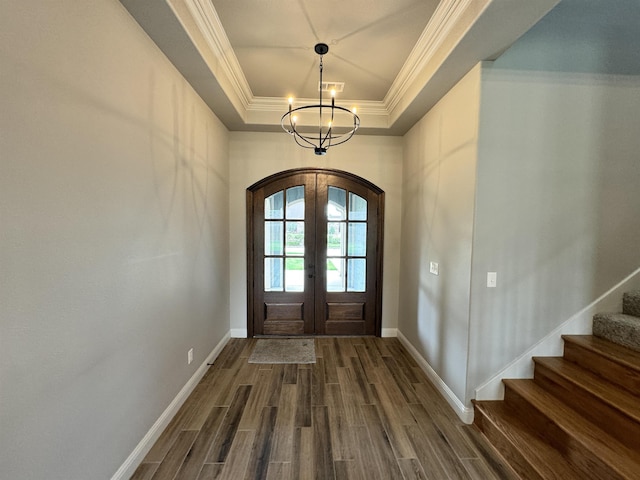
<instances>
[{"instance_id":1,"label":"long plain left-hand wall with a low electrical outlet","mask_svg":"<svg viewBox=\"0 0 640 480\"><path fill-rule=\"evenodd\" d=\"M109 478L229 330L228 133L113 0L0 65L0 478Z\"/></svg>"}]
</instances>

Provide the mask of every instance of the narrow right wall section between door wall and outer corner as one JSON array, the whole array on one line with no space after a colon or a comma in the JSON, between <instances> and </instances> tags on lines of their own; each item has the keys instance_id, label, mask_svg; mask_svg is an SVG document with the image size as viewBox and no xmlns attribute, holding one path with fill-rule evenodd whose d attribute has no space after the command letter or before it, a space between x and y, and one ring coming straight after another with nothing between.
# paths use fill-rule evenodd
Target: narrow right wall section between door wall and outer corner
<instances>
[{"instance_id":1,"label":"narrow right wall section between door wall and outer corner","mask_svg":"<svg viewBox=\"0 0 640 480\"><path fill-rule=\"evenodd\" d=\"M466 390L479 95L476 67L404 139L398 329L460 406ZM437 276L429 273L432 261L439 264Z\"/></svg>"}]
</instances>

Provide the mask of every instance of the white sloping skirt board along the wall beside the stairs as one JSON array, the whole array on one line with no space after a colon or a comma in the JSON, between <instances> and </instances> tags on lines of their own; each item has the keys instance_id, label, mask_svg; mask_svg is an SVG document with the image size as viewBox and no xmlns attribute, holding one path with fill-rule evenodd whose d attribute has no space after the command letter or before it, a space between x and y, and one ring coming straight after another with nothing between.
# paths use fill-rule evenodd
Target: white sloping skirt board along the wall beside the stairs
<instances>
[{"instance_id":1,"label":"white sloping skirt board along the wall beside the stairs","mask_svg":"<svg viewBox=\"0 0 640 480\"><path fill-rule=\"evenodd\" d=\"M562 335L591 335L593 315L599 312L619 311L622 305L622 294L627 290L637 288L640 288L640 268L600 295L582 310L572 315L551 333L476 388L475 399L502 400L504 398L503 378L533 378L534 364L532 357L562 356L564 352Z\"/></svg>"}]
</instances>

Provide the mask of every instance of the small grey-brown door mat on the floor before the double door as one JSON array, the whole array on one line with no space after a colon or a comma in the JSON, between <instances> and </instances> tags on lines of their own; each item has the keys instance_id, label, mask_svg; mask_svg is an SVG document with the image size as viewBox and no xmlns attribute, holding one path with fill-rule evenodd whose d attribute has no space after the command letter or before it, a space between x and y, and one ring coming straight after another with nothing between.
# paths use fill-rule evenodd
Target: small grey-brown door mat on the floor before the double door
<instances>
[{"instance_id":1,"label":"small grey-brown door mat on the floor before the double door","mask_svg":"<svg viewBox=\"0 0 640 480\"><path fill-rule=\"evenodd\" d=\"M249 363L316 363L313 338L261 338Z\"/></svg>"}]
</instances>

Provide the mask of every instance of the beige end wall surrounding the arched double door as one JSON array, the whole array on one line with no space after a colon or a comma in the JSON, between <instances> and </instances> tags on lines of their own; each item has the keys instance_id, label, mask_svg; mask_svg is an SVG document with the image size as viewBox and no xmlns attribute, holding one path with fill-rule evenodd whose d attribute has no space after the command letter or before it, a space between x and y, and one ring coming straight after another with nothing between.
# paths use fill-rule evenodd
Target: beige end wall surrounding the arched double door
<instances>
[{"instance_id":1,"label":"beige end wall surrounding the arched double door","mask_svg":"<svg viewBox=\"0 0 640 480\"><path fill-rule=\"evenodd\" d=\"M383 334L385 329L392 329L386 333L393 334L397 327L400 275L402 139L356 134L348 143L329 149L326 156L316 156L284 133L232 132L229 213L232 335L245 336L247 330L246 189L274 173L303 167L351 172L385 191L382 329Z\"/></svg>"}]
</instances>

